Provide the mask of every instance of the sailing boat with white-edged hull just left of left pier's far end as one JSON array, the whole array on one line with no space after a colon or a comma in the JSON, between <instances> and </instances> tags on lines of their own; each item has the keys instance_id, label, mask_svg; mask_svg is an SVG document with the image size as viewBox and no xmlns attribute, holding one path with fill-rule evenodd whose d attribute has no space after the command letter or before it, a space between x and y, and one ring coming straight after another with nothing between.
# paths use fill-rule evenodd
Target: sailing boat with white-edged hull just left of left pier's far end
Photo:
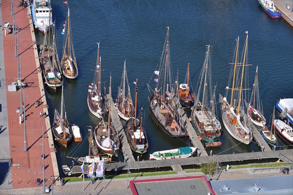
<instances>
[{"instance_id":1,"label":"sailing boat with white-edged hull just left of left pier's far end","mask_svg":"<svg viewBox=\"0 0 293 195\"><path fill-rule=\"evenodd\" d=\"M101 91L101 57L100 57L100 43L98 44L98 56L96 63L96 70L94 80L88 86L87 106L89 112L98 118L102 118L105 113L105 98Z\"/></svg>"}]
</instances>

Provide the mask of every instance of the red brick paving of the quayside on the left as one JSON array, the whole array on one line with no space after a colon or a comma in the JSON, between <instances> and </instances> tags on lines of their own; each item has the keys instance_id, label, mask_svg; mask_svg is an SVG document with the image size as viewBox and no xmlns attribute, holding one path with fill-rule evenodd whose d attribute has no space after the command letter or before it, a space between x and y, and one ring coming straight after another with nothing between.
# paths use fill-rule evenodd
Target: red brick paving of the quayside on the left
<instances>
[{"instance_id":1,"label":"red brick paving of the quayside on the left","mask_svg":"<svg viewBox=\"0 0 293 195\"><path fill-rule=\"evenodd\" d=\"M1 1L2 19L13 23L11 16L11 0ZM42 126L44 131L47 130L44 117L40 118L40 111L44 112L46 107L44 104L35 108L35 101L42 98L41 90L42 80L38 79L40 71L36 69L36 57L34 53L34 42L31 33L34 29L30 28L29 18L27 16L27 8L17 8L17 0L14 1L16 7L16 20L19 27L19 54L22 60L22 78L25 78L27 86L25 87L25 104L26 104L26 141L27 152L24 152L24 125L19 124L19 113L16 110L20 107L20 90L17 92L8 92L7 85L15 82L17 78L17 58L15 57L15 41L14 35L4 36L4 63L6 83L2 85L6 87L7 108L8 108L8 125L9 125L9 141L10 154L12 158L12 186L13 188L36 187L36 179L38 176L42 179ZM29 7L28 7L29 9ZM41 85L41 86L40 86ZM41 100L42 101L42 100ZM48 114L48 113L47 113ZM53 162L49 147L48 135L44 135L44 153L45 153L45 177L50 178L53 174ZM51 151L50 151L51 150ZM54 156L53 156L54 157ZM56 159L56 156L55 158ZM46 185L50 185L51 181L47 181Z\"/></svg>"}]
</instances>

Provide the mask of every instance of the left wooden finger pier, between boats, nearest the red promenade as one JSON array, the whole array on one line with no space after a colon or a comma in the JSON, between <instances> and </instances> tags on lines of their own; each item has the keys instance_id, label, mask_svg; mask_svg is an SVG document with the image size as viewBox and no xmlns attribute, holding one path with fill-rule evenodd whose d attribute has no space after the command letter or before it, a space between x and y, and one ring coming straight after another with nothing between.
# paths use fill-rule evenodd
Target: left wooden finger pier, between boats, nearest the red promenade
<instances>
[{"instance_id":1,"label":"left wooden finger pier, between boats, nearest the red promenade","mask_svg":"<svg viewBox=\"0 0 293 195\"><path fill-rule=\"evenodd\" d=\"M135 161L133 155L132 155L132 151L131 151L131 148L128 144L128 140L127 140L127 137L126 137L126 134L125 134L125 131L123 129L123 126L122 126L122 123L120 121L120 117L117 113L117 110L116 110L116 107L115 107L115 104L114 104L114 101L112 99L112 97L109 96L109 94L106 95L106 100L107 100L107 104L108 103L111 103L111 118L112 118L112 124L120 138L120 145L122 146L121 147L121 150L123 152L123 156L125 158L125 161L128 162L128 161Z\"/></svg>"}]
</instances>

